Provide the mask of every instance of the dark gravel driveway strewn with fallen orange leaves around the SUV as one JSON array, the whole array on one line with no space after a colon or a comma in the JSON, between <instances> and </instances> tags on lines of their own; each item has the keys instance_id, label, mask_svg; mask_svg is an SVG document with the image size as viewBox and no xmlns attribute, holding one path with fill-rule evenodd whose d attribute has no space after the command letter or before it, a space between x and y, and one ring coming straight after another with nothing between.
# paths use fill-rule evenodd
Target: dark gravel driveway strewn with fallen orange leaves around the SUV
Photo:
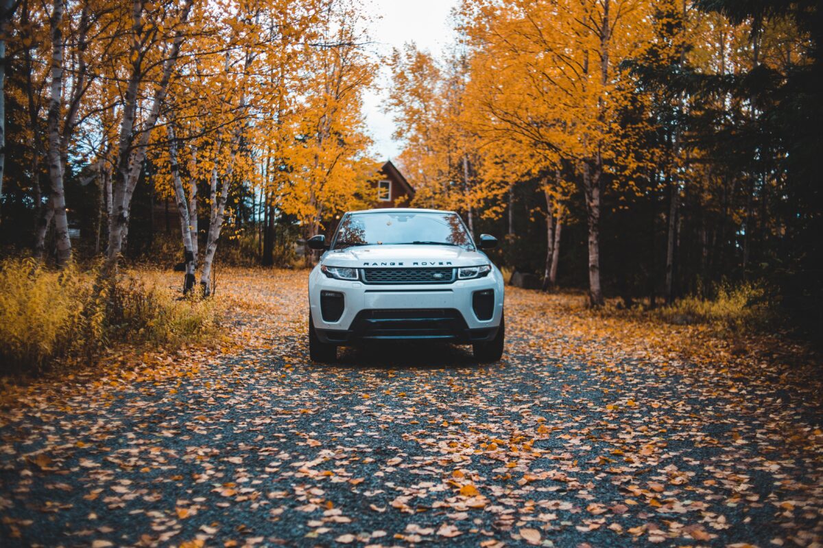
<instances>
[{"instance_id":1,"label":"dark gravel driveway strewn with fallen orange leaves around the SUV","mask_svg":"<svg viewBox=\"0 0 823 548\"><path fill-rule=\"evenodd\" d=\"M499 364L318 365L305 285L227 272L221 348L17 391L3 545L821 546L813 369L516 289Z\"/></svg>"}]
</instances>

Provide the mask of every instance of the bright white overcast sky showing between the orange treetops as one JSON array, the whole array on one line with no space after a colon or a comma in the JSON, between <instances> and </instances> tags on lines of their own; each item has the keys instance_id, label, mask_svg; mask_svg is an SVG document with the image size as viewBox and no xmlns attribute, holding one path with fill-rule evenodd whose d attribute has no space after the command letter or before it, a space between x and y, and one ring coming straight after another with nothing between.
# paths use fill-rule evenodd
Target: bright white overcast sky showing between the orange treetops
<instances>
[{"instance_id":1,"label":"bright white overcast sky showing between the orange treetops","mask_svg":"<svg viewBox=\"0 0 823 548\"><path fill-rule=\"evenodd\" d=\"M449 15L457 3L458 0L366 0L363 8L374 18L370 28L374 51L388 56L392 48L402 48L414 41L419 48L439 56L453 41ZM382 89L370 90L364 98L366 122L374 139L374 158L379 160L393 159L400 152L398 143L392 140L392 117L384 114L381 107L388 76L388 69L383 67L376 82Z\"/></svg>"}]
</instances>

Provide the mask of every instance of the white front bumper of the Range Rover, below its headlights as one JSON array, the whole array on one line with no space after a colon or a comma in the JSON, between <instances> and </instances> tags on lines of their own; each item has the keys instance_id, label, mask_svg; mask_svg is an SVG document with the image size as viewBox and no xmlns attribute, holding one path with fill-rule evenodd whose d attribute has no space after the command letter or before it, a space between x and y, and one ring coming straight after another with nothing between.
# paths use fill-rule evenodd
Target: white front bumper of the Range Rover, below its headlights
<instances>
[{"instance_id":1,"label":"white front bumper of the Range Rover, below its headlights","mask_svg":"<svg viewBox=\"0 0 823 548\"><path fill-rule=\"evenodd\" d=\"M494 294L491 316L481 319L472 306L472 298L477 292L489 290ZM496 269L485 278L436 286L348 282L329 279L319 269L309 276L309 306L315 332L323 343L342 345L370 339L489 341L495 338L503 316L503 291ZM344 305L339 319L323 318L323 292L342 296Z\"/></svg>"}]
</instances>

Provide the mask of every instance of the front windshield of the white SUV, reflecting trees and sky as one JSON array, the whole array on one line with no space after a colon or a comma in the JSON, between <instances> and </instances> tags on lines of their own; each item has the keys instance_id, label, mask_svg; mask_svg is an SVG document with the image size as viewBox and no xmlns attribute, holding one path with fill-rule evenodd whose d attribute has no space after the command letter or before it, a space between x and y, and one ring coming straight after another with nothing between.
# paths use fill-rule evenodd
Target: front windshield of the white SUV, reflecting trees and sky
<instances>
[{"instance_id":1,"label":"front windshield of the white SUV, reflecting trees and sky","mask_svg":"<svg viewBox=\"0 0 823 548\"><path fill-rule=\"evenodd\" d=\"M337 228L332 249L350 246L439 245L473 249L463 220L457 214L396 211L346 214Z\"/></svg>"}]
</instances>

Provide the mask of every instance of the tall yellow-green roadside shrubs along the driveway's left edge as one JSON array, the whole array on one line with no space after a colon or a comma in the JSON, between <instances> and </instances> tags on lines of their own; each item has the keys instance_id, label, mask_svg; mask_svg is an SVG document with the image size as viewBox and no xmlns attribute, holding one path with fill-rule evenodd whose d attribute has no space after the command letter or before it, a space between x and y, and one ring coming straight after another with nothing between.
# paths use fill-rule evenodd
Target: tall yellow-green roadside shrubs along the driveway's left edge
<instances>
[{"instance_id":1,"label":"tall yellow-green roadside shrubs along the driveway's left edge","mask_svg":"<svg viewBox=\"0 0 823 548\"><path fill-rule=\"evenodd\" d=\"M182 297L133 275L102 281L100 268L0 261L0 374L37 373L89 360L122 343L179 345L216 337L213 299Z\"/></svg>"}]
</instances>

